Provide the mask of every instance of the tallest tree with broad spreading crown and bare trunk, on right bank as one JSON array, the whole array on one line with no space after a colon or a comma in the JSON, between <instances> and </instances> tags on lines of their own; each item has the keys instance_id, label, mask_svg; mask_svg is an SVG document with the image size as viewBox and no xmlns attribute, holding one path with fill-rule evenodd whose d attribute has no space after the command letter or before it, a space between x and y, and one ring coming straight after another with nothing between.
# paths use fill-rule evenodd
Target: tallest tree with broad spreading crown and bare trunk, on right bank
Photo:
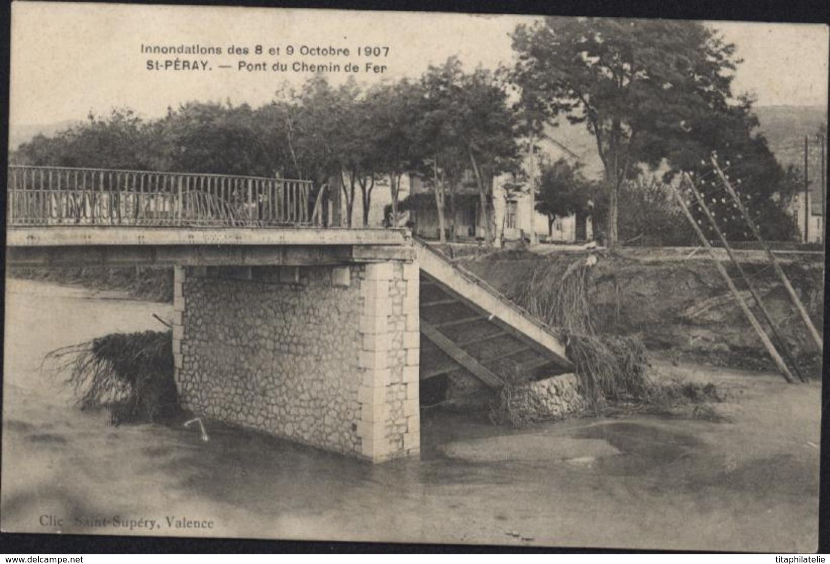
<instances>
[{"instance_id":1,"label":"tallest tree with broad spreading crown and bare trunk, on right bank","mask_svg":"<svg viewBox=\"0 0 830 564\"><path fill-rule=\"evenodd\" d=\"M729 105L735 47L699 22L667 20L546 17L512 37L516 83L551 119L585 123L596 140L613 248L623 180L690 120Z\"/></svg>"}]
</instances>

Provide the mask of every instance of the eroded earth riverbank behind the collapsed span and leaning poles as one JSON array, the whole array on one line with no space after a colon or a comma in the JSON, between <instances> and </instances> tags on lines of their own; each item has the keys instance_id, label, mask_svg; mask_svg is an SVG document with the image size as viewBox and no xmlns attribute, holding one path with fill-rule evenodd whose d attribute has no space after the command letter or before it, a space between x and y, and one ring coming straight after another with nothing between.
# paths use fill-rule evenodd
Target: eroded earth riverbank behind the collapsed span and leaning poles
<instances>
[{"instance_id":1,"label":"eroded earth riverbank behind the collapsed span and leaning poles","mask_svg":"<svg viewBox=\"0 0 830 564\"><path fill-rule=\"evenodd\" d=\"M576 306L589 310L596 333L637 336L648 351L677 360L741 370L775 370L709 258L700 253L692 257L687 257L687 252L671 254L671 249L637 249L637 253L624 250L618 255L598 253L598 263L587 272L577 270L581 262L574 255L563 253L540 256L504 251L480 260L465 258L461 264L551 326L590 334L554 307L560 286L569 292L569 287L582 285L587 290L587 305L580 301ZM822 326L821 257L793 255L781 266L816 326ZM799 369L813 378L820 377L821 353L815 350L803 322L793 315L792 302L779 277L768 263L751 257L743 267L779 323ZM563 282L569 269L573 269L569 280ZM729 266L727 270L732 272ZM740 282L738 287L745 299L751 299ZM579 316L570 321L584 322Z\"/></svg>"}]
</instances>

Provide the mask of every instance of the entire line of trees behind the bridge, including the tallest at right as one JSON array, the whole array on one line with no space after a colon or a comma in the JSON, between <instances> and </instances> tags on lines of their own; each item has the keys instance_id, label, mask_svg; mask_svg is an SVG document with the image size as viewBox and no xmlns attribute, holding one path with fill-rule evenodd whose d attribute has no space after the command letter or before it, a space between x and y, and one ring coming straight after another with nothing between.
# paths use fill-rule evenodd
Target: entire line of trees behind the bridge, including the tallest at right
<instances>
[{"instance_id":1,"label":"entire line of trees behind the bridge, including the tallest at right","mask_svg":"<svg viewBox=\"0 0 830 564\"><path fill-rule=\"evenodd\" d=\"M452 222L456 187L471 171L488 242L495 238L494 179L510 174L508 189L526 191L535 183L537 208L549 215L590 202L596 228L613 247L620 238L624 186L636 188L632 180L647 167L666 170L665 181L679 170L703 174L701 162L716 150L749 190L765 234L789 237L791 183L763 136L754 133L751 101L731 91L740 62L735 47L709 27L548 17L520 25L512 38L517 62L511 68L465 71L452 57L417 80L368 89L355 81L335 87L325 76L313 76L259 108L189 102L149 121L114 110L103 118L90 115L54 137L37 137L12 159L279 174L317 186L336 178L349 225L358 199L368 222L374 189L381 185L389 189L397 217L401 179L412 173L432 188L442 237L444 211L450 209ZM593 135L603 179L588 183L567 164L544 161L540 140L561 119L583 123ZM541 164L537 179L529 181L523 162Z\"/></svg>"}]
</instances>

